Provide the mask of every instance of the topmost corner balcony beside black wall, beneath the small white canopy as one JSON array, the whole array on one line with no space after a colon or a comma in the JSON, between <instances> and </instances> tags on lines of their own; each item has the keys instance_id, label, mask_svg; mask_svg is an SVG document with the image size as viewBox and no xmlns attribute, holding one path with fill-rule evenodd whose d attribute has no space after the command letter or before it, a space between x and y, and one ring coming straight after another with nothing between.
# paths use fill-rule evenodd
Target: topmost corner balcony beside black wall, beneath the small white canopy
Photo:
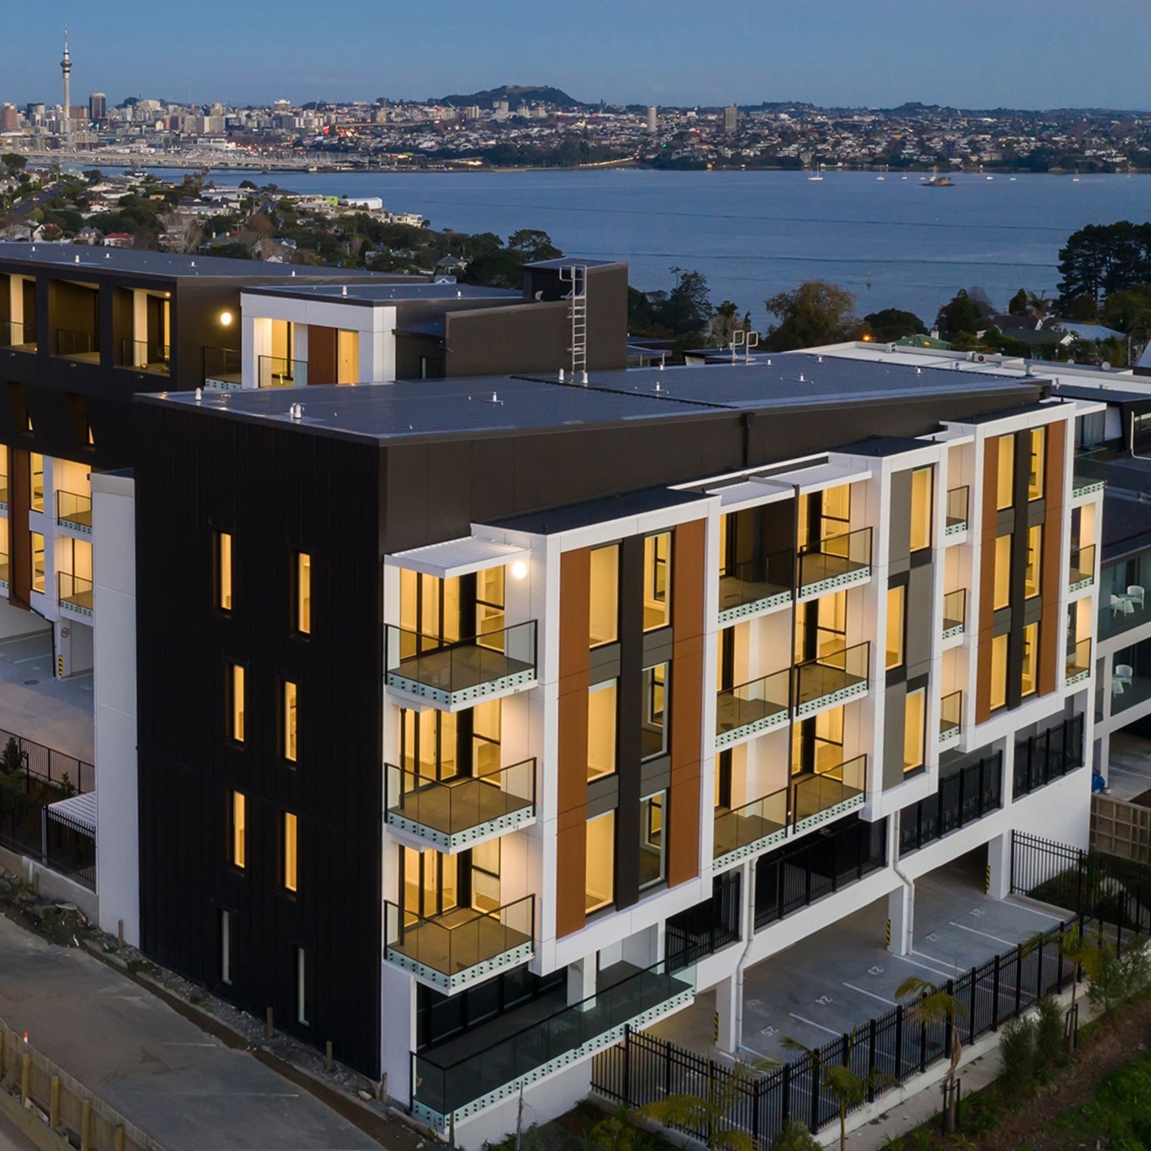
<instances>
[{"instance_id":1,"label":"topmost corner balcony beside black wall, beneath the small white canopy","mask_svg":"<svg viewBox=\"0 0 1151 1151\"><path fill-rule=\"evenodd\" d=\"M388 686L458 711L535 684L535 620L447 641L388 626Z\"/></svg>"}]
</instances>

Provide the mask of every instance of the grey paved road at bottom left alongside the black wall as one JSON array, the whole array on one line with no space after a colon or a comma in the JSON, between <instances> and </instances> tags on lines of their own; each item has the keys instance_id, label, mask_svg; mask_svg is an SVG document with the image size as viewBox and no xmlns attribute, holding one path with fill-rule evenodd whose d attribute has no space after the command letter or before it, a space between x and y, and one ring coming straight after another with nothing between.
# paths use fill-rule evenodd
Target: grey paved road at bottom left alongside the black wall
<instances>
[{"instance_id":1,"label":"grey paved road at bottom left alongside the black wall","mask_svg":"<svg viewBox=\"0 0 1151 1151\"><path fill-rule=\"evenodd\" d=\"M379 1144L86 952L0 917L0 1017L166 1151ZM0 1127L0 1151L7 1151ZM12 1146L24 1151L15 1141Z\"/></svg>"}]
</instances>

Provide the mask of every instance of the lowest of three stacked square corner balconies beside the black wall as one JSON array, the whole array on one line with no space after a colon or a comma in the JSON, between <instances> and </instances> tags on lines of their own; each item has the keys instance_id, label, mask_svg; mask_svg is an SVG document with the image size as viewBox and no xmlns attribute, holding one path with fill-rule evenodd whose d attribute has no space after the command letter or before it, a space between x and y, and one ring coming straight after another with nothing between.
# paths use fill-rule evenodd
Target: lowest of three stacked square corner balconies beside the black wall
<instances>
[{"instance_id":1,"label":"lowest of three stacked square corner balconies beside the black wall","mask_svg":"<svg viewBox=\"0 0 1151 1151\"><path fill-rule=\"evenodd\" d=\"M387 900L383 906L388 962L448 994L526 963L535 951L535 895L491 912L455 907L433 918Z\"/></svg>"}]
</instances>

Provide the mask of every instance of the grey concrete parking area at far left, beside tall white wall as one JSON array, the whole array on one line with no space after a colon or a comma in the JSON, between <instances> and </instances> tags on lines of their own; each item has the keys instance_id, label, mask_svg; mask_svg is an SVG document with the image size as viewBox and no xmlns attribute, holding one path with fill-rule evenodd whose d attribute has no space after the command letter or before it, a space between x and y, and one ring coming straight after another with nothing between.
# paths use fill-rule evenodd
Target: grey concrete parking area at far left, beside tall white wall
<instances>
[{"instance_id":1,"label":"grey concrete parking area at far left, beside tall white wall","mask_svg":"<svg viewBox=\"0 0 1151 1151\"><path fill-rule=\"evenodd\" d=\"M52 632L0 640L0 727L74 755L94 755L92 673L52 674Z\"/></svg>"}]
</instances>

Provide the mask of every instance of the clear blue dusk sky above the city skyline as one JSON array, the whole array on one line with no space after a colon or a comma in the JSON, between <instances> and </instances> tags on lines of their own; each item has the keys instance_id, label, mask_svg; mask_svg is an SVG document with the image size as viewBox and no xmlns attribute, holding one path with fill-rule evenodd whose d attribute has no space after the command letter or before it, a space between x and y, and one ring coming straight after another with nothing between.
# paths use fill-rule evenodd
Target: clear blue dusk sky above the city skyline
<instances>
[{"instance_id":1,"label":"clear blue dusk sky above the city skyline","mask_svg":"<svg viewBox=\"0 0 1151 1151\"><path fill-rule=\"evenodd\" d=\"M92 91L268 104L552 84L609 104L1151 107L1148 0L64 0L51 12L70 28L75 104ZM60 101L63 30L45 15L8 22L0 101Z\"/></svg>"}]
</instances>

